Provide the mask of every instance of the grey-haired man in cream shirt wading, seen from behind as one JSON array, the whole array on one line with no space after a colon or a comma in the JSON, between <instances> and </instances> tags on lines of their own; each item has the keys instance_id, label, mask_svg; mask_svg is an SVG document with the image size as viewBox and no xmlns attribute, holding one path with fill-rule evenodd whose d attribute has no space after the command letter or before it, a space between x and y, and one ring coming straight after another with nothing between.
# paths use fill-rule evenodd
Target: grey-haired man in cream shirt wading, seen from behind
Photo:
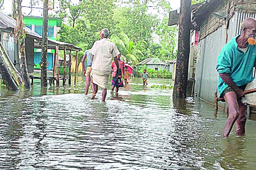
<instances>
[{"instance_id":1,"label":"grey-haired man in cream shirt wading, seen from behind","mask_svg":"<svg viewBox=\"0 0 256 170\"><path fill-rule=\"evenodd\" d=\"M119 66L117 55L120 54L116 45L108 40L109 31L104 28L100 31L101 40L94 42L90 53L93 54L92 71L90 73L91 85L93 89L94 99L98 91L98 86L103 88L102 90L102 102L105 102L107 96L108 77L111 73L111 62L114 57L114 61Z\"/></svg>"}]
</instances>

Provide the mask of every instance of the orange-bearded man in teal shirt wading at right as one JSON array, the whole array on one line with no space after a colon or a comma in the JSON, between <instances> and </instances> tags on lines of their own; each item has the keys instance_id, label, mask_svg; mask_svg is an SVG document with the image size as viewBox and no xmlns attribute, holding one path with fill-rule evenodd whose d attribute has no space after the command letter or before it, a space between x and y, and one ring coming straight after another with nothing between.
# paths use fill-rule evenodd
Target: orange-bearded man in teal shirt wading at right
<instances>
[{"instance_id":1,"label":"orange-bearded man in teal shirt wading at right","mask_svg":"<svg viewBox=\"0 0 256 170\"><path fill-rule=\"evenodd\" d=\"M229 116L223 136L228 136L236 122L236 134L245 134L247 106L241 102L245 86L253 81L253 66L256 66L256 45L248 44L248 38L256 37L256 20L247 18L241 23L242 34L234 37L218 56L216 69L219 73L218 91L224 96Z\"/></svg>"}]
</instances>

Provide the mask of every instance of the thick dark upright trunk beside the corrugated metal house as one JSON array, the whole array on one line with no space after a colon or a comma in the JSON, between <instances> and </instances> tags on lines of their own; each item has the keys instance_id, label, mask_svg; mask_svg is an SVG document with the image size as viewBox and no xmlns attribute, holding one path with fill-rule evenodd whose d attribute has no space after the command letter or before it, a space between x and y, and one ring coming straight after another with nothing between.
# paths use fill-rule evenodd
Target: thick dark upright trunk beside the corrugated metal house
<instances>
[{"instance_id":1,"label":"thick dark upright trunk beside the corrugated metal house","mask_svg":"<svg viewBox=\"0 0 256 170\"><path fill-rule=\"evenodd\" d=\"M186 98L191 28L191 0L180 1L179 38L173 97Z\"/></svg>"}]
</instances>

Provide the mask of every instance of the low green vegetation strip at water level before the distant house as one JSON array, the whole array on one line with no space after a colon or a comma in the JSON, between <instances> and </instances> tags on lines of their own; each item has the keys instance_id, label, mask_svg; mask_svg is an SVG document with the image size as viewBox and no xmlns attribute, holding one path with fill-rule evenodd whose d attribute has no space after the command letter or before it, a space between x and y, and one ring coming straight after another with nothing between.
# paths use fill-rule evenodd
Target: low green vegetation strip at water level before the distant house
<instances>
[{"instance_id":1,"label":"low green vegetation strip at water level before the distant house","mask_svg":"<svg viewBox=\"0 0 256 170\"><path fill-rule=\"evenodd\" d=\"M164 79L171 79L172 73L167 70L159 70L156 71L154 69L147 68L146 65L140 66L139 69L134 69L134 76L140 78L143 74L143 70L146 69L147 73L149 74L149 78L164 78Z\"/></svg>"}]
</instances>

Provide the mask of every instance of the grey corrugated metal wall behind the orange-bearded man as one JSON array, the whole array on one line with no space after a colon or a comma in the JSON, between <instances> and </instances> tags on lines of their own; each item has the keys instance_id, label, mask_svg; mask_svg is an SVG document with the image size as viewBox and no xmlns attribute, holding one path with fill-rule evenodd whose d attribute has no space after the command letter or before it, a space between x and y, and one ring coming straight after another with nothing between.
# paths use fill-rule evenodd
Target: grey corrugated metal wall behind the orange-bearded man
<instances>
[{"instance_id":1,"label":"grey corrugated metal wall behind the orange-bearded man","mask_svg":"<svg viewBox=\"0 0 256 170\"><path fill-rule=\"evenodd\" d=\"M238 34L241 34L240 24L247 17L256 18L256 14L244 14L236 12L230 20L228 30L228 41ZM198 44L198 56L195 75L195 93L197 96L214 103L214 93L218 87L217 65L218 55L225 45L225 26L221 26L215 32L208 35ZM224 106L224 103L220 103Z\"/></svg>"}]
</instances>

